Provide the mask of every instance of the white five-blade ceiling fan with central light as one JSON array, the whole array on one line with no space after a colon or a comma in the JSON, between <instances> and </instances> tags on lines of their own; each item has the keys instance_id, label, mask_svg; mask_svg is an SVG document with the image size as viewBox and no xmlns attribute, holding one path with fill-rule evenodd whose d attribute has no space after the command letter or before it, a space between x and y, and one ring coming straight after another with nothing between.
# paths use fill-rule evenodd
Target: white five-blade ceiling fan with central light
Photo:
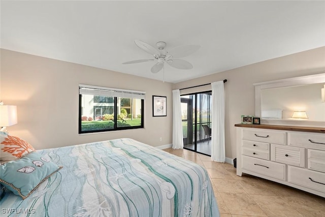
<instances>
[{"instance_id":1,"label":"white five-blade ceiling fan with central light","mask_svg":"<svg viewBox=\"0 0 325 217\"><path fill-rule=\"evenodd\" d=\"M188 56L196 52L200 48L200 45L181 45L171 49L170 52L168 52L167 50L165 50L166 42L157 42L156 46L158 50L145 42L139 40L135 40L134 42L140 49L153 55L153 58L137 59L127 61L122 64L137 64L147 61L156 61L156 64L153 65L153 67L151 68L152 73L157 73L161 69L163 69L165 63L169 64L171 67L174 67L176 69L192 69L193 66L188 61L178 58Z\"/></svg>"}]
</instances>

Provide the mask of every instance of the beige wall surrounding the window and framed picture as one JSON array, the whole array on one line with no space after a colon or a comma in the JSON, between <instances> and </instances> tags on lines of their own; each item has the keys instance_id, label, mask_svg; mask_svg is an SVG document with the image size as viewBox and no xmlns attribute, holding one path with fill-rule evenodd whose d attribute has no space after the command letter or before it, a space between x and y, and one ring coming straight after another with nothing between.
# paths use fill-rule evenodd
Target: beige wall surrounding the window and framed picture
<instances>
[{"instance_id":1,"label":"beige wall surrounding the window and framed picture","mask_svg":"<svg viewBox=\"0 0 325 217\"><path fill-rule=\"evenodd\" d=\"M8 131L36 149L115 138L172 143L171 83L1 49L0 84L0 100L18 110ZM145 129L79 135L79 84L146 91ZM152 117L152 95L167 96L167 117Z\"/></svg>"}]
</instances>

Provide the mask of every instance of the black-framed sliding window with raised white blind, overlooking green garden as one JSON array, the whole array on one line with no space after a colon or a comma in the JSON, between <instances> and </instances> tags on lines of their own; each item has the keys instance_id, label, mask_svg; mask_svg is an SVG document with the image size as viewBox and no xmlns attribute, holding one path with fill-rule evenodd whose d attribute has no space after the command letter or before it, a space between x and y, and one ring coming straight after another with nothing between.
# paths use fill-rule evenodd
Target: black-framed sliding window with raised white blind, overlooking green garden
<instances>
[{"instance_id":1,"label":"black-framed sliding window with raised white blind, overlooking green garden","mask_svg":"<svg viewBox=\"0 0 325 217\"><path fill-rule=\"evenodd\" d=\"M143 128L145 92L79 85L79 133Z\"/></svg>"}]
</instances>

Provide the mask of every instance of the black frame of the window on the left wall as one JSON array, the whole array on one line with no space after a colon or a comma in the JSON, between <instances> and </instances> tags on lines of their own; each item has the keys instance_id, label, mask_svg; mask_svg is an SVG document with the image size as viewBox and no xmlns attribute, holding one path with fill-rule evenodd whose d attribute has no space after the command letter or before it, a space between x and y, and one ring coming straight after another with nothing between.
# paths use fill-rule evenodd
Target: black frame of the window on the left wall
<instances>
[{"instance_id":1,"label":"black frame of the window on the left wall","mask_svg":"<svg viewBox=\"0 0 325 217\"><path fill-rule=\"evenodd\" d=\"M81 85L79 85L79 89L81 88ZM105 87L106 88L106 87ZM112 88L114 89L114 88ZM129 91L129 90L127 90ZM144 128L144 99L141 100L141 125L139 126L129 126L129 127L118 127L117 126L117 99L118 98L129 98L129 99L137 99L137 98L130 98L130 97L113 97L114 98L114 127L112 129L103 129L103 130L91 130L91 131L82 131L82 95L79 92L79 120L78 120L78 132L79 134L87 134L87 133L99 133L99 132L110 132L110 131L119 131L119 130L130 130L130 129L140 129ZM93 96L100 96L100 95L93 95Z\"/></svg>"}]
</instances>

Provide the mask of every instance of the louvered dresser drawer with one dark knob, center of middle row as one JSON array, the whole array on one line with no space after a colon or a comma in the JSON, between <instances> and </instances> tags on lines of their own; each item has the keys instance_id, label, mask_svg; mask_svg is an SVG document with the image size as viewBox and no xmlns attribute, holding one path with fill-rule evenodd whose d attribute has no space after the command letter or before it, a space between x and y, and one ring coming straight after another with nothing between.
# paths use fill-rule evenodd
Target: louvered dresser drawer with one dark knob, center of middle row
<instances>
[{"instance_id":1,"label":"louvered dresser drawer with one dark knob, center of middle row","mask_svg":"<svg viewBox=\"0 0 325 217\"><path fill-rule=\"evenodd\" d=\"M305 167L305 148L271 144L271 160L297 167Z\"/></svg>"}]
</instances>

